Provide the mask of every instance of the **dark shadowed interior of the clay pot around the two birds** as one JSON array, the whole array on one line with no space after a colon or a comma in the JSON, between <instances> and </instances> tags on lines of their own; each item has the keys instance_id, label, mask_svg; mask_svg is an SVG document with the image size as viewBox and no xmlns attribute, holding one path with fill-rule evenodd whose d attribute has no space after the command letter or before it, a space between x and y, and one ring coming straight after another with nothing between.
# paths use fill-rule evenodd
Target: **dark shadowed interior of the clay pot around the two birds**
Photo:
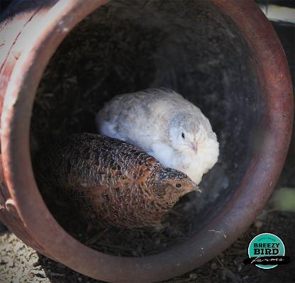
<instances>
[{"instance_id":1,"label":"dark shadowed interior of the clay pot around the two birds","mask_svg":"<svg viewBox=\"0 0 295 283\"><path fill-rule=\"evenodd\" d=\"M112 255L152 255L198 233L224 209L255 150L257 80L245 39L210 1L102 6L69 33L43 74L31 121L33 160L70 133L96 133L94 116L104 101L150 87L173 89L199 106L216 132L220 157L201 182L204 192L184 196L163 218L162 229L89 231L48 198L50 211L82 243Z\"/></svg>"}]
</instances>

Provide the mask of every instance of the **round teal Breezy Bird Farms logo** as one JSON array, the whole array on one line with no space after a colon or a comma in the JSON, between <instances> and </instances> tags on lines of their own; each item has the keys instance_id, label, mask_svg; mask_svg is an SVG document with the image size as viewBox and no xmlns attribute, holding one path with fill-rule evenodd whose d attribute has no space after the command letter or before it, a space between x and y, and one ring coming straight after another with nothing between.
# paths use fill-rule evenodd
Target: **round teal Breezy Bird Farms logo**
<instances>
[{"instance_id":1,"label":"round teal Breezy Bird Farms logo","mask_svg":"<svg viewBox=\"0 0 295 283\"><path fill-rule=\"evenodd\" d=\"M255 264L264 270L269 270L277 265L274 264L277 256L285 255L285 247L283 241L274 234L262 233L253 238L249 244L248 255ZM269 257L269 259L267 259ZM264 263L259 264L259 263ZM266 265L269 263L269 265Z\"/></svg>"}]
</instances>

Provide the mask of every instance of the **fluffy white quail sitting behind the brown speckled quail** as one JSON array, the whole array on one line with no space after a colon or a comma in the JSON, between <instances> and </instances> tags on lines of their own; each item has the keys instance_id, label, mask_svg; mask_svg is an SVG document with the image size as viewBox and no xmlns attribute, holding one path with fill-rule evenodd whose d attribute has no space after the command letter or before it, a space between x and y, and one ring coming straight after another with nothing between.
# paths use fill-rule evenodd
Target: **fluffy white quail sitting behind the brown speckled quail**
<instances>
[{"instance_id":1,"label":"fluffy white quail sitting behind the brown speckled quail","mask_svg":"<svg viewBox=\"0 0 295 283\"><path fill-rule=\"evenodd\" d=\"M102 135L143 148L197 184L218 160L219 145L208 118L169 89L115 96L97 114L96 126Z\"/></svg>"}]
</instances>

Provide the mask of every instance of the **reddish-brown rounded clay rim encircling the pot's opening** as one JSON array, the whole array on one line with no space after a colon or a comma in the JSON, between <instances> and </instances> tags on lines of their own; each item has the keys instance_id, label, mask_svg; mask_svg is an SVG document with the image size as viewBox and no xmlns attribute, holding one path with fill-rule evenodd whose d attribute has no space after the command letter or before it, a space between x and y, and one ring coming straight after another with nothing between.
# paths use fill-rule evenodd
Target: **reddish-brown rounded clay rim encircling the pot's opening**
<instances>
[{"instance_id":1,"label":"reddish-brown rounded clay rim encircling the pot's opening","mask_svg":"<svg viewBox=\"0 0 295 283\"><path fill-rule=\"evenodd\" d=\"M274 188L289 146L293 121L291 79L277 35L256 4L213 0L213 4L226 11L242 30L260 62L258 71L265 83L262 90L268 111L265 129L269 138L252 158L240 187L222 213L193 238L146 257L115 257L91 250L67 234L45 206L30 163L29 127L35 90L50 57L67 33L105 2L88 1L85 5L84 0L58 1L46 15L30 49L24 50L16 62L1 116L4 175L11 192L11 204L26 224L28 233L50 257L82 274L108 282L155 282L211 260L254 221Z\"/></svg>"}]
</instances>

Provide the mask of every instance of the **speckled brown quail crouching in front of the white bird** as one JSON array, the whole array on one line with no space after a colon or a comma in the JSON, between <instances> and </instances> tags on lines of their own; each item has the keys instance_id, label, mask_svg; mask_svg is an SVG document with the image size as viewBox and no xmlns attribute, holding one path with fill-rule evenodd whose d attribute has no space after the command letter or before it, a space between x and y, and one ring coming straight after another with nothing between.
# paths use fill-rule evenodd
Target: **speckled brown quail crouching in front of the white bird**
<instances>
[{"instance_id":1,"label":"speckled brown quail crouching in front of the white bird","mask_svg":"<svg viewBox=\"0 0 295 283\"><path fill-rule=\"evenodd\" d=\"M197 188L143 150L89 133L52 146L36 171L41 187L57 189L94 226L160 226L161 216Z\"/></svg>"}]
</instances>

